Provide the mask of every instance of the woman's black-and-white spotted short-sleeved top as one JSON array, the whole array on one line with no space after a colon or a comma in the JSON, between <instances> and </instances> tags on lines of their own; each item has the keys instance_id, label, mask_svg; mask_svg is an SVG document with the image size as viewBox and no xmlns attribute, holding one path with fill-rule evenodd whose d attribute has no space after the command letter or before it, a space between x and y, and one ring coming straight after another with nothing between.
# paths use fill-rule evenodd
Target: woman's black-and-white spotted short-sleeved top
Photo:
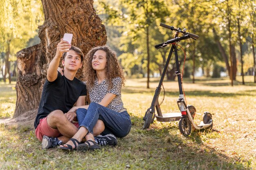
<instances>
[{"instance_id":1,"label":"woman's black-and-white spotted short-sleeved top","mask_svg":"<svg viewBox=\"0 0 256 170\"><path fill-rule=\"evenodd\" d=\"M116 96L110 102L110 104L108 104L107 108L119 112L120 110L124 109L124 104L121 99L122 80L120 77L116 77L112 79L112 83L113 87L108 91L109 82L104 79L100 84L98 84L98 79L96 77L94 86L88 91L90 101L99 103L107 93L115 94Z\"/></svg>"}]
</instances>

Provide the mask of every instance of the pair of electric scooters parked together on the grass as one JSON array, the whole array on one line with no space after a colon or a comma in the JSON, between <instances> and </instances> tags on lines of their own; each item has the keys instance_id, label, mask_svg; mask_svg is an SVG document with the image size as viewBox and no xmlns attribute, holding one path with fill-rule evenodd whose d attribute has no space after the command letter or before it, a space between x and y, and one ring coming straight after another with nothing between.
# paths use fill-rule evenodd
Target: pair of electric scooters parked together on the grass
<instances>
[{"instance_id":1,"label":"pair of electric scooters parked together on the grass","mask_svg":"<svg viewBox=\"0 0 256 170\"><path fill-rule=\"evenodd\" d=\"M186 29L183 29L183 31L178 28L175 29L173 26L168 26L166 24L161 23L160 26L170 29L172 31L176 31L175 37L171 40L168 40L166 42L163 42L161 44L155 45L156 49L163 48L167 46L168 44L172 44L171 50L169 52L168 58L166 60L166 64L164 66L164 71L161 75L161 79L159 81L159 85L157 86L155 90L155 95L153 97L152 103L150 108L147 109L143 120L144 120L144 126L143 129L149 128L150 124L153 123L154 118L157 118L157 121L161 122L168 122L168 121L179 121L179 130L184 136L188 136L191 133L192 128L193 129L212 129L213 128L213 119L212 115L209 112L204 112L203 115L203 122L201 122L199 125L195 124L193 121L196 113L196 109L192 105L187 105L185 100L184 100L184 93L183 93L183 88L182 88L182 74L180 73L180 65L179 65L179 60L178 60L178 54L177 54L177 46L175 43L180 42L182 40L186 39L193 39L197 40L199 38L198 35L186 32ZM182 34L181 37L178 37L179 34ZM178 85L179 85L179 91L180 95L179 98L177 99L177 105L180 109L180 112L178 113L162 113L160 105L159 105L159 94L161 92L161 86L164 81L164 76L166 74L168 64L171 60L171 55L174 52L175 54L175 63L177 67L177 71L175 71L175 75L177 75L178 79ZM157 115L155 114L155 110L157 111Z\"/></svg>"}]
</instances>

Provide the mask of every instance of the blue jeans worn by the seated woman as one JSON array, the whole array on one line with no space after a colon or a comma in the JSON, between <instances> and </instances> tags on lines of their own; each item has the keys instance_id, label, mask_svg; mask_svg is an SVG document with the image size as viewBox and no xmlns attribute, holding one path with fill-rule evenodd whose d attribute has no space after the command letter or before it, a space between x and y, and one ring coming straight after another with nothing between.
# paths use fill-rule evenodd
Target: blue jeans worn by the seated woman
<instances>
[{"instance_id":1,"label":"blue jeans worn by the seated woman","mask_svg":"<svg viewBox=\"0 0 256 170\"><path fill-rule=\"evenodd\" d=\"M76 117L79 128L83 126L92 134L92 129L98 119L102 120L105 125L105 130L101 135L112 133L116 137L125 137L132 126L130 115L127 111L119 113L94 102L90 103L88 110L85 108L77 109Z\"/></svg>"}]
</instances>

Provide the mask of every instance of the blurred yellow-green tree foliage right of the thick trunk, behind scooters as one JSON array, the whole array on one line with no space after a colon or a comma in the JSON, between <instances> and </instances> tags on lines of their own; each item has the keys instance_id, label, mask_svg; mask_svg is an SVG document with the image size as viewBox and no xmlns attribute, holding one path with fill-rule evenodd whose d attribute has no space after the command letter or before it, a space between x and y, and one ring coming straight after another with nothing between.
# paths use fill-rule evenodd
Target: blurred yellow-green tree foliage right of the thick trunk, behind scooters
<instances>
[{"instance_id":1,"label":"blurred yellow-green tree foliage right of the thick trunk, behind scooters","mask_svg":"<svg viewBox=\"0 0 256 170\"><path fill-rule=\"evenodd\" d=\"M157 72L161 73L168 50L155 50L154 45L171 39L174 33L161 28L160 22L186 28L187 31L200 36L197 41L181 43L186 47L188 61L185 70L189 75L191 72L194 75L197 68L201 67L207 76L214 70L226 70L229 74L232 70L232 79L236 79L237 74L242 71L247 73L254 67L252 35L256 33L256 4L253 0L95 2L95 7L107 28L119 32L116 34L116 41L108 41L108 44L115 44L115 48L119 50L121 63L129 76L145 76L147 67L150 68L151 76ZM108 37L112 37L109 32ZM148 54L150 58L147 60ZM243 61L243 55L246 55L246 59L249 57L252 60ZM182 53L180 57L180 61L183 60ZM244 68L242 63L245 64ZM238 69L241 66L242 69ZM174 78L173 69L175 64L171 61L167 71L168 79Z\"/></svg>"}]
</instances>

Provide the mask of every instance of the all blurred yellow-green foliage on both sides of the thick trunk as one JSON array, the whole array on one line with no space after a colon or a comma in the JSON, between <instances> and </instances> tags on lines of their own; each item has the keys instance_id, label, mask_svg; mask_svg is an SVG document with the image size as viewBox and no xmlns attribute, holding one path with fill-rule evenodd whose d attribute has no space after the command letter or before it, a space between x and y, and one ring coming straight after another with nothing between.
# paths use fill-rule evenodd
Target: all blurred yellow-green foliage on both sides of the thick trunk
<instances>
[{"instance_id":1,"label":"all blurred yellow-green foliage on both sides of the thick trunk","mask_svg":"<svg viewBox=\"0 0 256 170\"><path fill-rule=\"evenodd\" d=\"M160 27L160 22L200 36L197 41L181 42L187 60L184 76L194 77L198 68L210 76L218 70L214 67L229 75L232 70L231 79L255 72L254 0L94 0L94 6L106 26L108 45L117 51L130 77L149 79L162 73L169 49L156 50L154 45L171 39L174 32ZM0 77L5 79L15 71L17 51L38 42L42 11L40 0L2 0ZM168 79L175 78L175 69L171 60Z\"/></svg>"}]
</instances>

